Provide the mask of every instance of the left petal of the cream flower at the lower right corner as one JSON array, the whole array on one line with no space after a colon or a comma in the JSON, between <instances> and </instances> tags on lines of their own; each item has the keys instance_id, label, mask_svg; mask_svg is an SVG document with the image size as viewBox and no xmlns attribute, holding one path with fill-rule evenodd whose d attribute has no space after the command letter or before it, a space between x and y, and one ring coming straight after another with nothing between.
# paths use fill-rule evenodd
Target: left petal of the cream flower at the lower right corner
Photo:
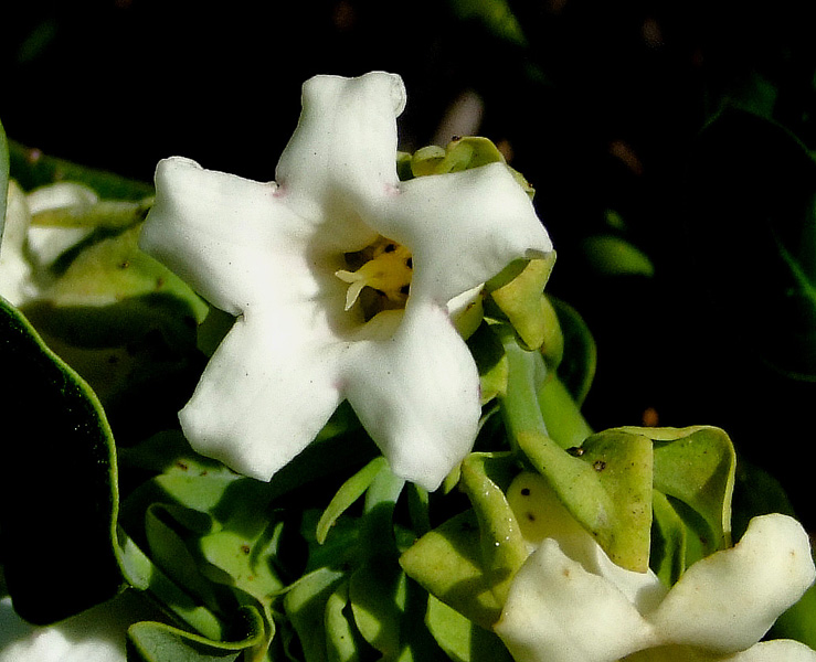
<instances>
[{"instance_id":1,"label":"left petal of the cream flower at the lower right corner","mask_svg":"<svg viewBox=\"0 0 816 662\"><path fill-rule=\"evenodd\" d=\"M494 629L517 662L614 662L654 641L629 600L553 538L521 566Z\"/></svg>"}]
</instances>

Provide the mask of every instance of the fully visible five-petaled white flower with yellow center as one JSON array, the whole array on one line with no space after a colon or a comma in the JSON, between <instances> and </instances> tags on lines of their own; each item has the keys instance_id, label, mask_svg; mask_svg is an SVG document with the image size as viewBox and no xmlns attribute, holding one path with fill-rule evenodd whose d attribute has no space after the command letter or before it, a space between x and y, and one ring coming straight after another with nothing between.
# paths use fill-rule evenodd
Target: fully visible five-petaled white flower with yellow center
<instances>
[{"instance_id":1,"label":"fully visible five-petaled white flower with yellow center","mask_svg":"<svg viewBox=\"0 0 816 662\"><path fill-rule=\"evenodd\" d=\"M180 413L203 455L268 480L343 399L430 490L471 448L479 380L448 303L552 246L502 163L400 182L404 104L396 75L317 76L275 182L159 163L141 246L237 318Z\"/></svg>"}]
</instances>

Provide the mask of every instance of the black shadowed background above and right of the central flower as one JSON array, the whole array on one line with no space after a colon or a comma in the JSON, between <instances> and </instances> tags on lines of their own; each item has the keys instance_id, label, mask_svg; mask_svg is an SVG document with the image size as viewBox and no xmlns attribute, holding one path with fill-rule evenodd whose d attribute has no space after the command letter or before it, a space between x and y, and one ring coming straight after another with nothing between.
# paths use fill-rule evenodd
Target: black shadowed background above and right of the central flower
<instances>
[{"instance_id":1,"label":"black shadowed background above and right of the central flower","mask_svg":"<svg viewBox=\"0 0 816 662\"><path fill-rule=\"evenodd\" d=\"M0 22L0 117L11 139L140 180L171 154L269 180L314 74L400 73L405 149L475 90L479 132L537 188L559 252L549 291L597 342L592 426L647 412L721 426L813 528L816 318L767 285L769 218L774 232L794 218L788 245L816 248L802 229L816 182L810 3L512 1L524 43L463 14L479 4L18 3ZM741 110L701 137L724 107ZM593 266L584 242L598 233L643 250L654 276Z\"/></svg>"}]
</instances>

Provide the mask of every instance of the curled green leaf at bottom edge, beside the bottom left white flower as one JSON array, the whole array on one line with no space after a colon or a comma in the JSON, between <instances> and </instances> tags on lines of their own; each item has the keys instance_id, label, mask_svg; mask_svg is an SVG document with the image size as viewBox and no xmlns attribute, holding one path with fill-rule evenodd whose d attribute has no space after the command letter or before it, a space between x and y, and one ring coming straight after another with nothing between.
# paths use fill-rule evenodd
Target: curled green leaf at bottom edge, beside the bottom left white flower
<instances>
[{"instance_id":1,"label":"curled green leaf at bottom edge, beside the bottom left white flower","mask_svg":"<svg viewBox=\"0 0 816 662\"><path fill-rule=\"evenodd\" d=\"M264 623L252 608L239 611L232 624L235 641L221 642L191 634L166 623L144 621L128 630L128 660L140 662L234 662L259 660L264 653ZM253 650L254 649L254 650ZM247 658L243 658L244 652Z\"/></svg>"}]
</instances>

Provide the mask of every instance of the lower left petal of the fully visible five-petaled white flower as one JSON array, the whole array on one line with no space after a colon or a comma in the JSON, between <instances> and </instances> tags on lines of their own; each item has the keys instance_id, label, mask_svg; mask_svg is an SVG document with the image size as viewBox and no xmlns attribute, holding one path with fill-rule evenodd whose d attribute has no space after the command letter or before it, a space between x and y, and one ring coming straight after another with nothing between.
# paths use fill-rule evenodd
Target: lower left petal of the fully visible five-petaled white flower
<instances>
[{"instance_id":1,"label":"lower left petal of the fully visible five-petaled white flower","mask_svg":"<svg viewBox=\"0 0 816 662\"><path fill-rule=\"evenodd\" d=\"M269 480L342 399L343 346L285 310L240 318L179 414L190 444L240 473Z\"/></svg>"}]
</instances>

